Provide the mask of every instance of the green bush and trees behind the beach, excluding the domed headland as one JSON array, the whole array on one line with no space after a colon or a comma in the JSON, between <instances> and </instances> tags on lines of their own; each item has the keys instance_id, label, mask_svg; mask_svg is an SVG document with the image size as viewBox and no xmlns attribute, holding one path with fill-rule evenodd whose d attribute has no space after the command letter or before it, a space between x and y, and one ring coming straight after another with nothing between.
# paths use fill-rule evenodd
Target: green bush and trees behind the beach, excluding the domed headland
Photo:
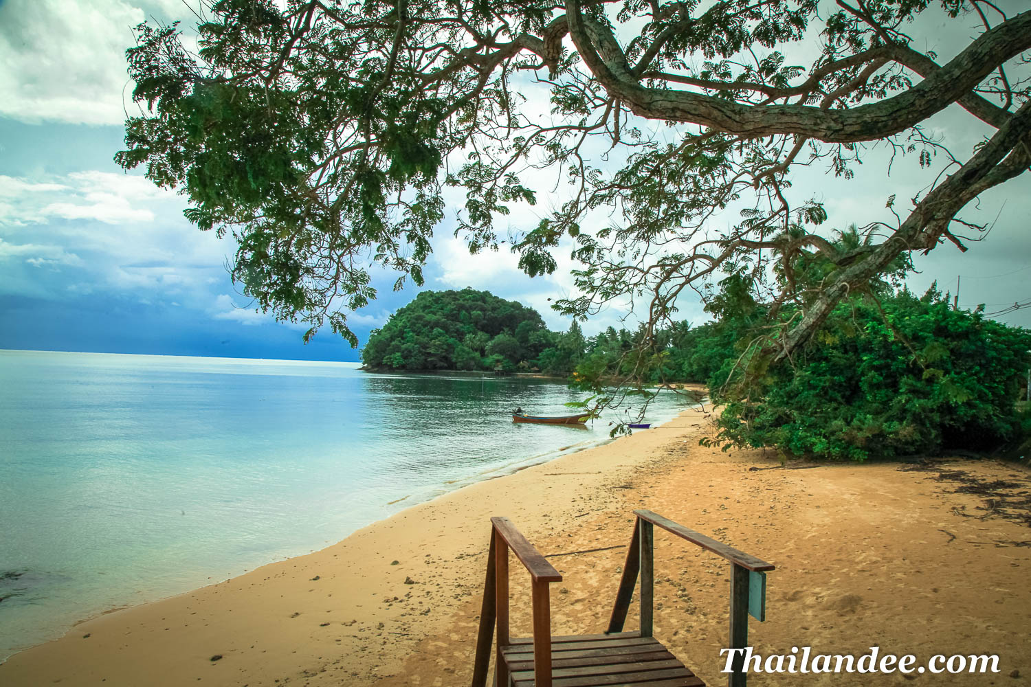
<instances>
[{"instance_id":1,"label":"green bush and trees behind the beach, excluding the domed headland","mask_svg":"<svg viewBox=\"0 0 1031 687\"><path fill-rule=\"evenodd\" d=\"M728 290L722 319L661 332L648 354L626 332L589 340L576 383L600 398L613 380L705 383L724 406L710 443L785 457L986 451L1031 433L1016 403L1031 366L1027 330L955 310L933 287L918 298L883 285L840 304L788 365L768 366L756 355L768 313Z\"/></svg>"}]
</instances>

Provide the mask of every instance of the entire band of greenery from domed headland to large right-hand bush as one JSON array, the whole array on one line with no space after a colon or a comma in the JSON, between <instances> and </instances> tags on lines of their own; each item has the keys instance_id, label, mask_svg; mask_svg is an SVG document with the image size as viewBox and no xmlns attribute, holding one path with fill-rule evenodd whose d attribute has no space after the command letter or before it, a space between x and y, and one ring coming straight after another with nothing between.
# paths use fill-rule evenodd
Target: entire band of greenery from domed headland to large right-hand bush
<instances>
[{"instance_id":1,"label":"entire band of greenery from domed headland to large right-hand bush","mask_svg":"<svg viewBox=\"0 0 1031 687\"><path fill-rule=\"evenodd\" d=\"M532 308L488 291L423 291L371 333L362 360L368 370L540 372L600 399L612 387L704 383L724 405L714 443L794 456L980 451L1031 433L1018 404L1027 330L958 310L934 287L918 297L883 283L876 299L839 305L791 365L757 369L751 346L771 313L747 293L726 280L707 308L714 321L697 327L586 337L575 321L552 332Z\"/></svg>"}]
</instances>

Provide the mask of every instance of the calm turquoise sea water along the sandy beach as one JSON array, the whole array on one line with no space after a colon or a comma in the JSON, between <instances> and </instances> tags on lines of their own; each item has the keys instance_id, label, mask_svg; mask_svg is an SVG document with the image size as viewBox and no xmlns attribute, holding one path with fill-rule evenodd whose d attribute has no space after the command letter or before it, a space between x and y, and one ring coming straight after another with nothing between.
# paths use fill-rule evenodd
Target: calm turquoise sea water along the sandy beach
<instances>
[{"instance_id":1,"label":"calm turquoise sea water along the sandy beach","mask_svg":"<svg viewBox=\"0 0 1031 687\"><path fill-rule=\"evenodd\" d=\"M607 440L604 419L510 420L581 397L347 363L0 351L0 660Z\"/></svg>"}]
</instances>

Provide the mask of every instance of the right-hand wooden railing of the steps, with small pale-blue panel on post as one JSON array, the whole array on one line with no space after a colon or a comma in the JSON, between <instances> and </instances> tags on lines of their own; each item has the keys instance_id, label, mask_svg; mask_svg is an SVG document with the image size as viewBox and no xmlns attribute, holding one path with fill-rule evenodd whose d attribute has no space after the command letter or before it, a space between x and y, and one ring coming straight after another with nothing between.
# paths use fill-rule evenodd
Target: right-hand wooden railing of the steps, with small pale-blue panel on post
<instances>
[{"instance_id":1,"label":"right-hand wooden railing of the steps, with small pale-blue panel on post","mask_svg":"<svg viewBox=\"0 0 1031 687\"><path fill-rule=\"evenodd\" d=\"M641 579L640 589L640 632L641 637L652 637L653 610L655 604L655 526L670 531L692 544L723 556L730 561L730 646L729 649L743 649L749 643L749 613L751 611L759 620L765 619L765 573L774 566L765 560L760 560L743 551L727 546L705 535L689 529L681 524L662 517L647 510L634 511L637 516L634 522L634 534L627 550L627 560L623 565L623 577L620 579L620 589L616 595L612 615L608 622L607 633L622 632L630 610L634 587L638 574ZM755 586L755 593L751 587ZM730 687L744 687L744 657L741 652L735 655L728 679ZM500 684L500 683L499 683Z\"/></svg>"}]
</instances>

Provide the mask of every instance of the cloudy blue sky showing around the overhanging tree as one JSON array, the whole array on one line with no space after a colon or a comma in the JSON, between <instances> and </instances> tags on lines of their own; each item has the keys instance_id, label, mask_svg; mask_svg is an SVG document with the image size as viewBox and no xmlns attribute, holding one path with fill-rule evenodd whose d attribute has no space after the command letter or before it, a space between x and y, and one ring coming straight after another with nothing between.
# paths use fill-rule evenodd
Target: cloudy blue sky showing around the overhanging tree
<instances>
[{"instance_id":1,"label":"cloudy blue sky showing around the overhanging tree","mask_svg":"<svg viewBox=\"0 0 1031 687\"><path fill-rule=\"evenodd\" d=\"M328 329L305 345L305 325L255 312L229 278L231 240L200 232L182 216L185 199L112 162L133 107L124 51L131 27L145 18L193 19L182 0L0 0L0 348L358 359ZM942 58L966 42L964 31L973 33L955 24L931 29L936 44L925 49ZM958 108L930 130L959 153L988 133ZM887 197L909 198L928 178L913 156L886 176L889 154L869 151L849 181L803 170L794 193L823 200L835 227L890 220ZM965 211L993 224L988 238L965 254L949 244L919 257L911 287L923 291L936 280L955 293L960 277L960 305L985 303L988 312L1031 300L1029 192L1021 178ZM518 208L510 228L531 229L547 207ZM447 220L433 248L424 288L489 289L536 308L552 329L569 327L548 308L548 299L574 293L566 256L555 274L530 279L504 248L470 257ZM412 285L394 293L392 283L377 279L379 299L348 315L361 342L418 293ZM696 300L678 305L680 317L704 321ZM585 331L619 327L627 314L609 308ZM999 319L1031 327L1031 308Z\"/></svg>"}]
</instances>

